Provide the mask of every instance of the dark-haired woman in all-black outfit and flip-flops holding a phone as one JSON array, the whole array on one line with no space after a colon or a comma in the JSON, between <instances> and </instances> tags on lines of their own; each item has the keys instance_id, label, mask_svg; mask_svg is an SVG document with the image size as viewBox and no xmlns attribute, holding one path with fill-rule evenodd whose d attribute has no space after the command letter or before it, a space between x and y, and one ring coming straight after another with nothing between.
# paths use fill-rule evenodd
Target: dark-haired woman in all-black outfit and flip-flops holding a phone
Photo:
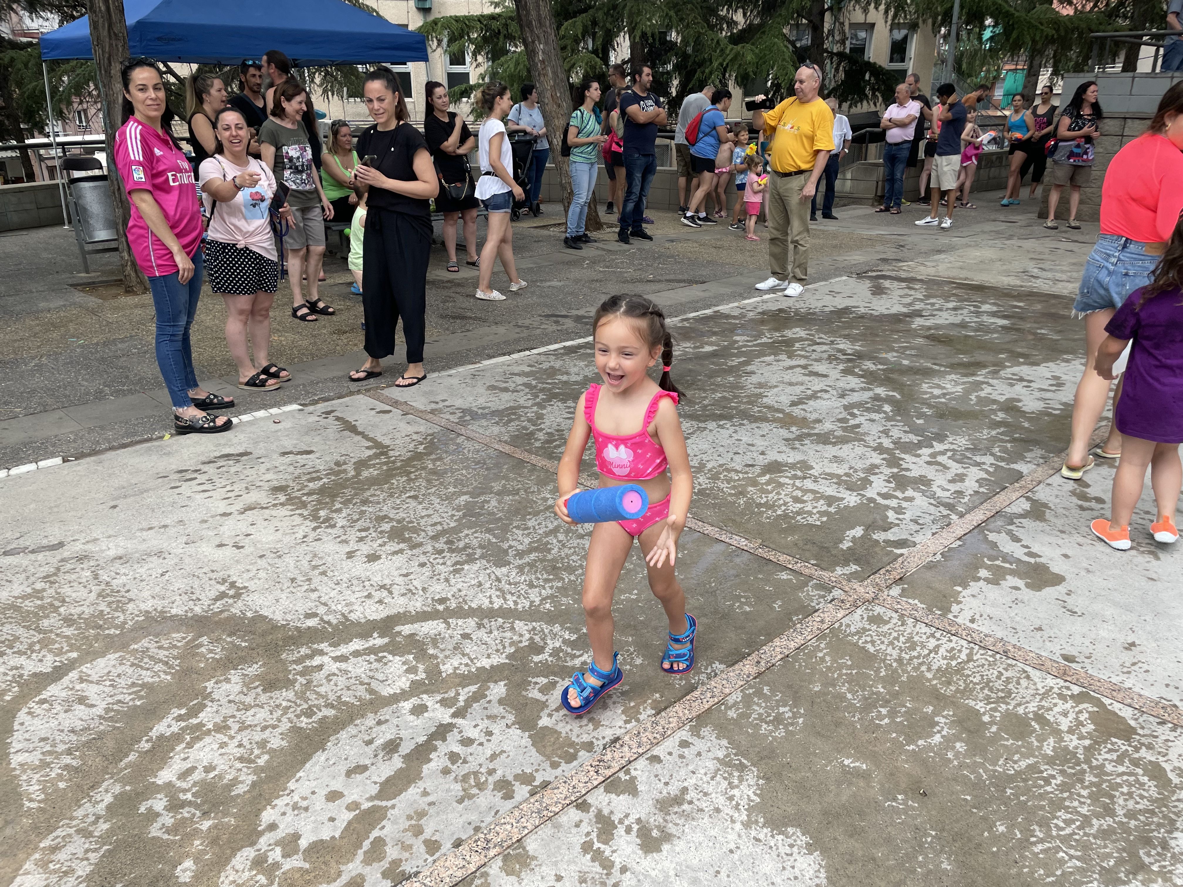
<instances>
[{"instance_id":1,"label":"dark-haired woman in all-black outfit and flip-flops holding a phone","mask_svg":"<svg viewBox=\"0 0 1183 887\"><path fill-rule=\"evenodd\" d=\"M424 337L427 328L427 263L432 250L431 199L439 177L422 134L409 122L407 103L394 71L379 65L362 85L374 118L357 138L362 162L354 181L366 194L362 306L369 360L349 374L351 382L382 375L382 358L394 354L394 334L402 318L407 369L395 388L427 378Z\"/></svg>"}]
</instances>

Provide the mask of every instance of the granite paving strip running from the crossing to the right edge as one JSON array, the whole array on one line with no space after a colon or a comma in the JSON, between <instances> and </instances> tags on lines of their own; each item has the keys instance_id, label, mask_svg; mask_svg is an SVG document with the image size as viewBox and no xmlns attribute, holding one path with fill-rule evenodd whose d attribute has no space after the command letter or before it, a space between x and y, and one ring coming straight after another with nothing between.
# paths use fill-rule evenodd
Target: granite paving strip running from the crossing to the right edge
<instances>
[{"instance_id":1,"label":"granite paving strip running from the crossing to the right edge","mask_svg":"<svg viewBox=\"0 0 1183 887\"><path fill-rule=\"evenodd\" d=\"M1171 705L1170 703L1164 703L1162 699L1155 699L1145 693L1139 693L1136 689L1130 689L1129 687L1123 687L1121 685L1105 680L1104 678L1098 678L1097 675L1090 674L1080 668L1074 668L1067 662L1052 659L1051 656L1045 656L1041 653L1035 653L1034 650L1020 647L1017 643L1011 643L1010 641L987 634L985 632L980 632L972 626L967 626L957 620L942 616L939 613L930 610L924 604L910 601L906 597L898 597L886 591L875 591L872 597L872 602L903 616L907 616L909 619L914 619L917 622L923 622L924 624L936 628L939 632L951 634L955 637L961 637L963 641L976 643L978 647L984 647L988 650L998 653L1007 659L1013 659L1016 662L1035 668L1045 674L1051 674L1053 678L1059 678L1068 684L1075 684L1078 687L1084 687L1088 692L1095 693L1099 697L1112 699L1114 703L1120 703L1121 705L1126 705L1131 708L1137 708L1139 712L1151 714L1168 721L1169 724L1183 727L1183 710Z\"/></svg>"}]
</instances>

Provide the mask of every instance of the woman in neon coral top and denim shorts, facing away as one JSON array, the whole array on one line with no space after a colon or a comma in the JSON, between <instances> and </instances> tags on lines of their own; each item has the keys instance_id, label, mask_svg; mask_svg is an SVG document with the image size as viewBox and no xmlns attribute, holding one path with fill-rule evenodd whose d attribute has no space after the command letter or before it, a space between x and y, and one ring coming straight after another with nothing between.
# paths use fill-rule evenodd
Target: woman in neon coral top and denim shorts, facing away
<instances>
[{"instance_id":1,"label":"woman in neon coral top and denim shorts, facing away","mask_svg":"<svg viewBox=\"0 0 1183 887\"><path fill-rule=\"evenodd\" d=\"M1183 83L1163 95L1144 135L1119 150L1101 186L1101 233L1088 254L1073 315L1085 318L1085 370L1072 407L1072 442L1060 474L1079 480L1093 465L1088 441L1105 410L1110 383L1092 371L1105 324L1126 296L1150 283L1183 212ZM1118 384L1114 399L1121 396ZM1110 426L1097 452L1121 454L1121 434Z\"/></svg>"}]
</instances>

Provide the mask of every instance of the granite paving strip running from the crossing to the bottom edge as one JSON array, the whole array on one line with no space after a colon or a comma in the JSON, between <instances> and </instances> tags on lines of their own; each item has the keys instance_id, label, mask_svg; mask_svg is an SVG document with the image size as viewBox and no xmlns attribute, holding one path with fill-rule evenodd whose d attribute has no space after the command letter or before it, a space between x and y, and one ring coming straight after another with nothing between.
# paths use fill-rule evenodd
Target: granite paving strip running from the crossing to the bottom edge
<instances>
[{"instance_id":1,"label":"granite paving strip running from the crossing to the bottom edge","mask_svg":"<svg viewBox=\"0 0 1183 887\"><path fill-rule=\"evenodd\" d=\"M407 887L444 887L464 880L790 653L841 622L866 603L868 597L866 590L861 594L848 591L822 604L784 634L661 713L633 727L575 770L498 816L454 850L438 857L402 883Z\"/></svg>"}]
</instances>

